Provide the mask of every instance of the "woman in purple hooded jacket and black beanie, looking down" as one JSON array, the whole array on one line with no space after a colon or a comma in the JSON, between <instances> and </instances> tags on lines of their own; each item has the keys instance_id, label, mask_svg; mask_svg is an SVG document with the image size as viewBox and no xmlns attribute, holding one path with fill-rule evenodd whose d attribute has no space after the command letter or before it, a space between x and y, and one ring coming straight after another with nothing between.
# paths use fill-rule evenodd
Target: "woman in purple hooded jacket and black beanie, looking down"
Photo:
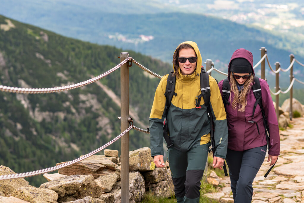
<instances>
[{"instance_id":1,"label":"woman in purple hooded jacket and black beanie, looking down","mask_svg":"<svg viewBox=\"0 0 304 203\"><path fill-rule=\"evenodd\" d=\"M256 98L252 90L254 69L250 51L238 49L233 53L228 65L228 80L230 97L225 105L228 124L226 162L229 167L231 190L235 203L250 203L253 194L252 182L267 151L266 132L259 105L253 115ZM263 79L259 81L262 106L270 131L268 162L271 160L271 166L278 159L280 152L278 121L268 84ZM219 82L223 96L222 88L223 80Z\"/></svg>"}]
</instances>

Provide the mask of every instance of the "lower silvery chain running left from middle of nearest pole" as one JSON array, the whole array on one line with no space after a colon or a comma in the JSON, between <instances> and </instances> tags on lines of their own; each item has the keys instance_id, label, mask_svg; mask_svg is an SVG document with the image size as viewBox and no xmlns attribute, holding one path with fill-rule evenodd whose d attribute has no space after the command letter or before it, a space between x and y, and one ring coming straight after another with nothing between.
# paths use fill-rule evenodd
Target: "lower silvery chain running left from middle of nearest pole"
<instances>
[{"instance_id":1,"label":"lower silvery chain running left from middle of nearest pole","mask_svg":"<svg viewBox=\"0 0 304 203\"><path fill-rule=\"evenodd\" d=\"M24 177L30 177L30 176L35 176L35 175L39 175L39 174L44 174L44 173L48 173L54 170L58 170L60 168L69 166L73 163L77 163L81 160L84 160L88 157L91 157L93 154L105 149L106 147L108 147L109 145L111 145L112 143L116 142L119 138L121 138L124 134L126 134L128 131L130 131L130 129L133 128L133 125L131 125L129 128L127 128L125 131L123 131L119 136L117 136L116 138L112 139L110 142L106 143L105 145L103 145L102 147L82 156L79 157L77 159L74 159L72 161L66 162L66 163L62 163L58 166L54 166L54 167L50 167L50 168L45 168L45 169L41 169L41 170L35 170L35 171L31 171L31 172L26 172L26 173L20 173L20 174L9 174L9 175L1 175L0 176L0 180L8 180L8 179L15 179L15 178L24 178Z\"/></svg>"}]
</instances>

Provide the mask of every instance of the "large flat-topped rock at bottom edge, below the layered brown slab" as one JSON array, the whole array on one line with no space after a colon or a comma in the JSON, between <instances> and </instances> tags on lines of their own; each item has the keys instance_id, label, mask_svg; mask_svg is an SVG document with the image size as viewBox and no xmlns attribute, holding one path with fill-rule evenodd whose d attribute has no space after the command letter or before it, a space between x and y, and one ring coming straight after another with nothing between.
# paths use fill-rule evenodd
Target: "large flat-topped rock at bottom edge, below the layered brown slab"
<instances>
[{"instance_id":1,"label":"large flat-topped rock at bottom edge, below the layered brown slab","mask_svg":"<svg viewBox=\"0 0 304 203\"><path fill-rule=\"evenodd\" d=\"M40 188L54 190L59 195L58 202L74 201L86 196L97 198L102 194L101 188L92 175L72 175L49 181Z\"/></svg>"}]
</instances>

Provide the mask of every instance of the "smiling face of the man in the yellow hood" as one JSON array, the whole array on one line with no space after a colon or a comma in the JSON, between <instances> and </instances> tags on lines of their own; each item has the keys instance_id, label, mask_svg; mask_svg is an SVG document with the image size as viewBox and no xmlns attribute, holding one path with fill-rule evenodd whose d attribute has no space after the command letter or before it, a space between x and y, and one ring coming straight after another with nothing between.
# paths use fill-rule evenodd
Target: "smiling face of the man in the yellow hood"
<instances>
[{"instance_id":1,"label":"smiling face of the man in the yellow hood","mask_svg":"<svg viewBox=\"0 0 304 203\"><path fill-rule=\"evenodd\" d=\"M185 57L185 58L196 57L196 54L193 49L181 49L178 52L178 57L179 58L180 57ZM196 62L197 62L197 60L195 60L194 63L190 63L189 60L187 59L185 63L181 63L178 60L179 68L181 69L181 74L191 75L196 69Z\"/></svg>"}]
</instances>

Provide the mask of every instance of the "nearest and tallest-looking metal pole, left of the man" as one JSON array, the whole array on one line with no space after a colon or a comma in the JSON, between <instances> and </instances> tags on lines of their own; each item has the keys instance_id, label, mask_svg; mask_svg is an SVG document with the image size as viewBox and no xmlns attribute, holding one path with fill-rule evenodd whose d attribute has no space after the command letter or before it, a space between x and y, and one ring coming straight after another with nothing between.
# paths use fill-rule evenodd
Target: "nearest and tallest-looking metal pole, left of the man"
<instances>
[{"instance_id":1,"label":"nearest and tallest-looking metal pole, left of the man","mask_svg":"<svg viewBox=\"0 0 304 203\"><path fill-rule=\"evenodd\" d=\"M129 53L120 53L120 62L129 57ZM129 67L128 63L120 67L120 128L121 132L129 127ZM121 202L129 203L129 132L121 137Z\"/></svg>"}]
</instances>

